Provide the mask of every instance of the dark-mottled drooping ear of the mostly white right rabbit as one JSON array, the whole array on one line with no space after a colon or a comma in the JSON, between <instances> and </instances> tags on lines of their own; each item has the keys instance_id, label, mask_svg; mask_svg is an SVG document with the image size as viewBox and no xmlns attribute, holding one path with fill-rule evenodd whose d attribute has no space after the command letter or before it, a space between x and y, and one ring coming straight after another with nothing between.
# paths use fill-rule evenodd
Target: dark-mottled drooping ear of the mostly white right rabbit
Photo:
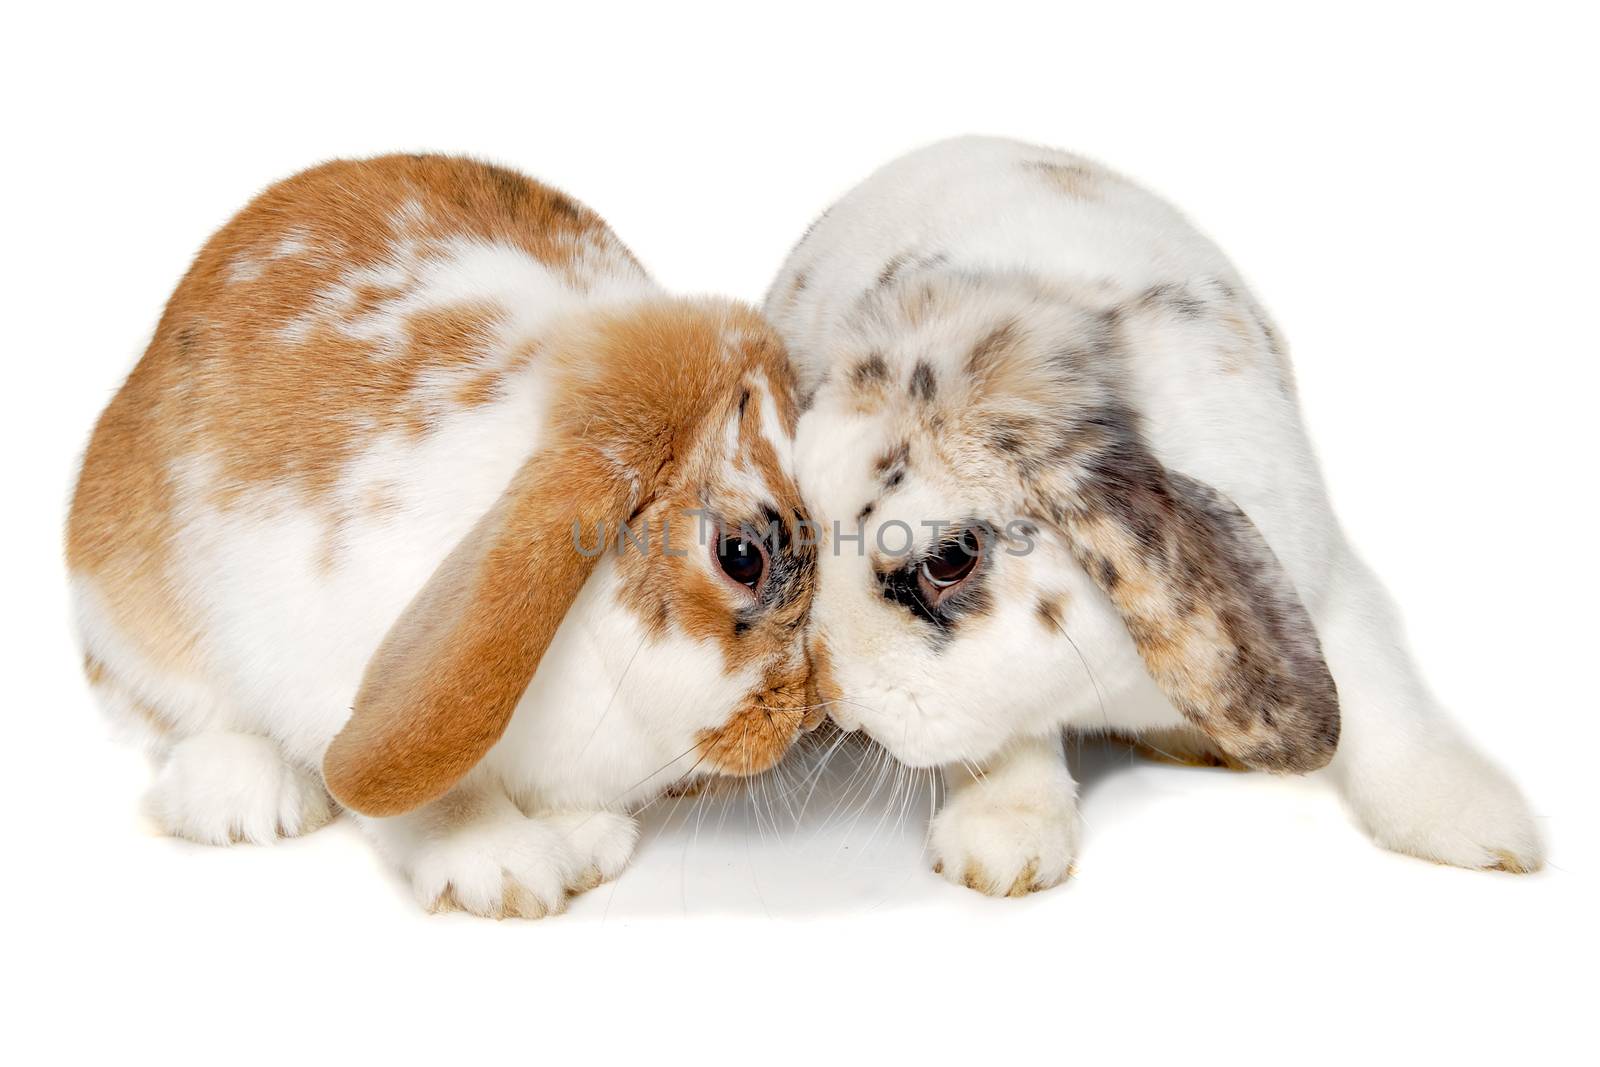
<instances>
[{"instance_id":1,"label":"dark-mottled drooping ear of the mostly white right rabbit","mask_svg":"<svg viewBox=\"0 0 1600 1067\"><path fill-rule=\"evenodd\" d=\"M1339 699L1272 549L1232 501L1117 437L1058 509L1078 563L1155 683L1226 753L1266 771L1326 766Z\"/></svg>"}]
</instances>

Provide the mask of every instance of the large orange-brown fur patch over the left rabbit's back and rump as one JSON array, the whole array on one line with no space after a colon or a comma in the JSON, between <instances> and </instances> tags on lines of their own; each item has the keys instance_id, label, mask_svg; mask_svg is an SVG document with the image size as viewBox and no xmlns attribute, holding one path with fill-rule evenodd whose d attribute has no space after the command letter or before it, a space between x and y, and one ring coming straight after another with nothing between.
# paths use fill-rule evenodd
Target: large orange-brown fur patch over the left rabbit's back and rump
<instances>
[{"instance_id":1,"label":"large orange-brown fur patch over the left rabbit's back and rump","mask_svg":"<svg viewBox=\"0 0 1600 1067\"><path fill-rule=\"evenodd\" d=\"M451 238L520 248L579 290L590 262L643 277L600 218L570 198L435 155L309 170L256 197L200 251L94 427L67 520L69 568L93 577L112 622L152 662L202 669L197 624L168 574L176 464L216 464L224 506L283 485L315 507L373 435L427 430L426 379L464 374L459 403L493 394L477 376L491 373L483 344L498 309L416 314L398 347L341 328L416 283L347 286L347 277L386 267L400 245L426 262ZM579 259L584 248L595 253Z\"/></svg>"}]
</instances>

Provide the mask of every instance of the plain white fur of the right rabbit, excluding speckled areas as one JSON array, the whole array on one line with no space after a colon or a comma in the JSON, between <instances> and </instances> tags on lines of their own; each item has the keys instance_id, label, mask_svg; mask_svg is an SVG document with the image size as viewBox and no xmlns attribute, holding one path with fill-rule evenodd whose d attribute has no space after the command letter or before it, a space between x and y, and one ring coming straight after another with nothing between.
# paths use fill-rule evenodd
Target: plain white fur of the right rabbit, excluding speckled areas
<instances>
[{"instance_id":1,"label":"plain white fur of the right rabbit, excluding speckled areas","mask_svg":"<svg viewBox=\"0 0 1600 1067\"><path fill-rule=\"evenodd\" d=\"M1090 194L1059 187L1051 166ZM1328 774L1373 837L1467 867L1539 864L1539 837L1515 785L1427 693L1387 597L1341 534L1288 368L1270 350L1270 326L1246 286L1170 205L1088 160L1000 139L941 142L872 174L795 248L766 309L798 365L802 392L821 386L797 437L800 485L816 520L853 523L875 494L874 458L902 432L893 414L853 413L842 384L874 341L870 323L853 312L896 261L909 270L1030 275L1107 306L1160 285L1221 282L1218 293L1234 293L1243 314L1229 326L1174 315L1123 323L1128 387L1149 443L1170 469L1229 496L1293 579L1339 691L1342 739ZM938 336L925 341L926 358L949 357ZM1018 504L1003 493L971 499L971 485L909 478L880 501L869 544L872 526L893 518L915 526ZM1107 598L1048 530L1037 552L992 553L990 565L997 611L938 654L878 593L853 545L824 550L813 617L848 697L835 718L866 728L909 763L979 769L941 816L936 853L957 881L970 862L992 867L976 880L1005 893L1021 857L1045 883L1070 862L1070 779L1061 781L1059 755L1042 760L1037 745L1054 744L1064 726L1139 731L1179 718ZM1061 595L1075 648L1032 617L1042 593ZM1008 806L1013 793L1030 800ZM1053 835L1040 830L1046 817L1058 824Z\"/></svg>"}]
</instances>

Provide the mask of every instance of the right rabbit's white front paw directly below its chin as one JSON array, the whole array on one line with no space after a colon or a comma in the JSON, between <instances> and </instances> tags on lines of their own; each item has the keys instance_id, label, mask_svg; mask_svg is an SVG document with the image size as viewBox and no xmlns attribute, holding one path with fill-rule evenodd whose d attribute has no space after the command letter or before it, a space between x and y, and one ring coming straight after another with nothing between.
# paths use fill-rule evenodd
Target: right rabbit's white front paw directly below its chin
<instances>
[{"instance_id":1,"label":"right rabbit's white front paw directly below its chin","mask_svg":"<svg viewBox=\"0 0 1600 1067\"><path fill-rule=\"evenodd\" d=\"M976 781L933 821L933 869L989 896L1059 885L1078 849L1078 813L1066 769L1048 781Z\"/></svg>"}]
</instances>

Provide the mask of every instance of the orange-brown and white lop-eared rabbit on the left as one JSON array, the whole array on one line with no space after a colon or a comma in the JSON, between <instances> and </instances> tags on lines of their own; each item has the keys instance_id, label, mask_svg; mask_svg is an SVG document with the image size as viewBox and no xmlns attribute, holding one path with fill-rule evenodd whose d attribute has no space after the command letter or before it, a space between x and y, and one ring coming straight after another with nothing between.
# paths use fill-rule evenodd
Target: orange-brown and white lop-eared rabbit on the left
<instances>
[{"instance_id":1,"label":"orange-brown and white lop-eared rabbit on the left","mask_svg":"<svg viewBox=\"0 0 1600 1067\"><path fill-rule=\"evenodd\" d=\"M272 186L179 283L67 522L85 669L226 845L342 805L432 910L542 917L630 811L805 728L787 358L466 158Z\"/></svg>"}]
</instances>

